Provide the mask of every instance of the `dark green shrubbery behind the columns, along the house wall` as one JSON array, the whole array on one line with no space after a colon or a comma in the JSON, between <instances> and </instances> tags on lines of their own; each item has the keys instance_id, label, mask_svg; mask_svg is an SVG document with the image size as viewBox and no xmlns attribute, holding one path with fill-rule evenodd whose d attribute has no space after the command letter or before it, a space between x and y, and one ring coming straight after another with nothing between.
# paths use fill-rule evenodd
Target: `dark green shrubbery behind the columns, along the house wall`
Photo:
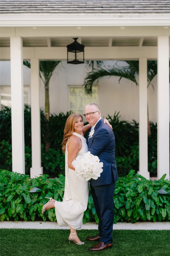
<instances>
[{"instance_id":1,"label":"dark green shrubbery behind the columns, along the house wall","mask_svg":"<svg viewBox=\"0 0 170 256\"><path fill-rule=\"evenodd\" d=\"M42 166L43 172L58 176L64 174L64 155L61 143L64 134L64 126L70 112L66 114L51 115L49 121L45 118L41 110L41 143L42 143ZM11 170L12 151L11 151L11 108L3 107L0 111L0 142L3 155L1 157L1 169ZM112 124L116 140L116 162L119 176L127 175L129 170L136 172L139 169L139 124L135 120L128 122L120 120L119 112L114 116L108 116L107 119ZM157 124L150 122L151 135L148 136L148 170L151 176L157 175ZM45 150L45 140L47 140L46 130L48 128L48 141L50 142L50 151ZM31 108L25 105L24 108L24 132L25 132L25 160L26 174L29 174L31 167ZM85 134L87 136L87 133ZM49 151L49 152L48 152ZM6 152L6 153L5 153ZM6 154L6 155L5 155Z\"/></svg>"}]
</instances>

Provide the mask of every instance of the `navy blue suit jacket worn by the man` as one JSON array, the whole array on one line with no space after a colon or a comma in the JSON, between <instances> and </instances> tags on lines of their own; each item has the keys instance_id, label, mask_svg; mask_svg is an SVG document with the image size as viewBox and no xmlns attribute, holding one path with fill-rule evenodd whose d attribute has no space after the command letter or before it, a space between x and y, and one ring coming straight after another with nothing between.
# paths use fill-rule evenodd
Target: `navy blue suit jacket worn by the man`
<instances>
[{"instance_id":1,"label":"navy blue suit jacket worn by the man","mask_svg":"<svg viewBox=\"0 0 170 256\"><path fill-rule=\"evenodd\" d=\"M118 180L114 133L107 124L104 124L103 119L100 119L94 130L92 138L89 138L88 133L87 144L90 153L98 156L100 162L103 162L103 172L97 180L91 179L90 184L92 186L111 184Z\"/></svg>"}]
</instances>

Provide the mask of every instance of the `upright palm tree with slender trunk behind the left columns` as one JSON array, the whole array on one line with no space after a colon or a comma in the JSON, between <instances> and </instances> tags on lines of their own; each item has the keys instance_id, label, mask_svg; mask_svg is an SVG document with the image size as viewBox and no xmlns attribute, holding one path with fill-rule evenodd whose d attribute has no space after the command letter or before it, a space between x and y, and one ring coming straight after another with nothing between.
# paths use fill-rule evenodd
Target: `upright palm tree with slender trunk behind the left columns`
<instances>
[{"instance_id":1,"label":"upright palm tree with slender trunk behind the left columns","mask_svg":"<svg viewBox=\"0 0 170 256\"><path fill-rule=\"evenodd\" d=\"M50 119L50 100L49 100L49 83L50 78L54 74L58 64L61 61L40 61L40 78L42 79L45 86L45 116L46 120ZM24 66L31 68L31 63L29 61L23 61ZM45 149L50 148L50 143L48 142L48 127L46 131L46 145Z\"/></svg>"}]
</instances>

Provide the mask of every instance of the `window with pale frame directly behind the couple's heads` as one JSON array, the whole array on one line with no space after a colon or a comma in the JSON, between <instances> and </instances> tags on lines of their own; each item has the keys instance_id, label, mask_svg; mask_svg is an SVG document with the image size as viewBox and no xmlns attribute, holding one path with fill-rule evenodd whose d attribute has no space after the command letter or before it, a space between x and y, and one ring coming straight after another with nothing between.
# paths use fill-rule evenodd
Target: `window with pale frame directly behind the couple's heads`
<instances>
[{"instance_id":1,"label":"window with pale frame directly behind the couple's heads","mask_svg":"<svg viewBox=\"0 0 170 256\"><path fill-rule=\"evenodd\" d=\"M87 95L82 86L69 85L69 102L69 108L72 112L83 115L87 104L90 102L98 104L98 85L93 85L92 96Z\"/></svg>"}]
</instances>

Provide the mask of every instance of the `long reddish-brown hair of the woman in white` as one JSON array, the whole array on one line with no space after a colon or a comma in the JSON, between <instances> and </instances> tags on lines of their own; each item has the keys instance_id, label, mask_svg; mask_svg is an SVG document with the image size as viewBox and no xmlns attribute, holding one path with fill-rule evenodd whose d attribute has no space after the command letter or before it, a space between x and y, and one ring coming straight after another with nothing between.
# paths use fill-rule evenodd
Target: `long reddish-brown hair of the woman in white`
<instances>
[{"instance_id":1,"label":"long reddish-brown hair of the woman in white","mask_svg":"<svg viewBox=\"0 0 170 256\"><path fill-rule=\"evenodd\" d=\"M71 114L66 121L66 125L64 128L64 139L63 139L63 143L62 143L62 149L63 152L66 152L66 143L67 140L69 138L70 135L72 135L72 133L74 132L74 124L75 121L80 117L81 115L78 113L73 113ZM83 117L81 116L81 118L83 119Z\"/></svg>"}]
</instances>

